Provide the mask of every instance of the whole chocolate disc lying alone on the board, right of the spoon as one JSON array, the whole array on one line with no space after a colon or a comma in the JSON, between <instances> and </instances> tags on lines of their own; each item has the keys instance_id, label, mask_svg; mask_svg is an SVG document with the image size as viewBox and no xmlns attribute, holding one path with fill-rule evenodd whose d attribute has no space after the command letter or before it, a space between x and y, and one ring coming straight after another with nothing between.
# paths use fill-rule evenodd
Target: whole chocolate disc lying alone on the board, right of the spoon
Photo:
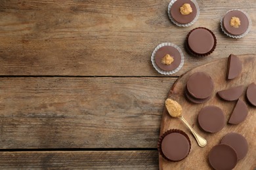
<instances>
[{"instance_id":1,"label":"whole chocolate disc lying alone on the board, right of the spoon","mask_svg":"<svg viewBox=\"0 0 256 170\"><path fill-rule=\"evenodd\" d=\"M204 131L215 133L223 129L225 118L223 110L215 106L207 106L200 110L198 123Z\"/></svg>"}]
</instances>

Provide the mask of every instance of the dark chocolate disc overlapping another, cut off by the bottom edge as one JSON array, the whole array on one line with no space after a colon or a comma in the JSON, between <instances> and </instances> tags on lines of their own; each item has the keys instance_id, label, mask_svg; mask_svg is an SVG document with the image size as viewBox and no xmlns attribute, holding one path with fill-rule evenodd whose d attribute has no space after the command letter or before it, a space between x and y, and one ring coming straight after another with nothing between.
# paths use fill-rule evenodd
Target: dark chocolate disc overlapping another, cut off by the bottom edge
<instances>
[{"instance_id":1,"label":"dark chocolate disc overlapping another, cut off by the bottom edge","mask_svg":"<svg viewBox=\"0 0 256 170\"><path fill-rule=\"evenodd\" d=\"M238 156L231 146L218 144L211 149L209 153L209 162L214 169L233 169L238 162Z\"/></svg>"}]
</instances>

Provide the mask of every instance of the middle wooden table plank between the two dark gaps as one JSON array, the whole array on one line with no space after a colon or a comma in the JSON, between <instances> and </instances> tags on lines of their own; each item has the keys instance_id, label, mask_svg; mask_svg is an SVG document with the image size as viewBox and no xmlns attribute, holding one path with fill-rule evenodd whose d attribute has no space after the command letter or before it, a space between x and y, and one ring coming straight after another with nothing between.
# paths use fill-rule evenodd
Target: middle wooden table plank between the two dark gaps
<instances>
[{"instance_id":1,"label":"middle wooden table plank between the two dark gaps","mask_svg":"<svg viewBox=\"0 0 256 170\"><path fill-rule=\"evenodd\" d=\"M156 148L175 80L1 77L0 148Z\"/></svg>"}]
</instances>

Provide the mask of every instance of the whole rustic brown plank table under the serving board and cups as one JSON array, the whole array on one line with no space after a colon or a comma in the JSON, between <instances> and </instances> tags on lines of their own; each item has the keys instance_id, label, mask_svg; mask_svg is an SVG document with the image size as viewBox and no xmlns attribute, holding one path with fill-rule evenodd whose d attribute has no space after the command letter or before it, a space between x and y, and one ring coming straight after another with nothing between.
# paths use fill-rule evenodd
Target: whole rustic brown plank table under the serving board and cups
<instances>
[{"instance_id":1,"label":"whole rustic brown plank table under the serving board and cups","mask_svg":"<svg viewBox=\"0 0 256 170\"><path fill-rule=\"evenodd\" d=\"M0 1L0 169L158 169L156 149L167 92L177 77L229 54L256 54L255 0L198 0L200 18L176 27L167 0ZM219 20L230 9L253 22L230 39ZM217 48L184 49L194 27ZM150 56L180 46L181 71L162 76Z\"/></svg>"}]
</instances>

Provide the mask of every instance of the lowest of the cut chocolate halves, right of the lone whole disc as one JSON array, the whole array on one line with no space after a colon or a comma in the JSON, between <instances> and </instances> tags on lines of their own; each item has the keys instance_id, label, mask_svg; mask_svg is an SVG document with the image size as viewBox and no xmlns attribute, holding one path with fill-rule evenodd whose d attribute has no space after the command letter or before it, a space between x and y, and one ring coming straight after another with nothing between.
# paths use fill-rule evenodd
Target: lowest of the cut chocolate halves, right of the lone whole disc
<instances>
[{"instance_id":1,"label":"lowest of the cut chocolate halves, right of the lone whole disc","mask_svg":"<svg viewBox=\"0 0 256 170\"><path fill-rule=\"evenodd\" d=\"M240 124L245 120L248 114L247 105L242 99L239 99L234 110L228 120L229 124Z\"/></svg>"}]
</instances>

